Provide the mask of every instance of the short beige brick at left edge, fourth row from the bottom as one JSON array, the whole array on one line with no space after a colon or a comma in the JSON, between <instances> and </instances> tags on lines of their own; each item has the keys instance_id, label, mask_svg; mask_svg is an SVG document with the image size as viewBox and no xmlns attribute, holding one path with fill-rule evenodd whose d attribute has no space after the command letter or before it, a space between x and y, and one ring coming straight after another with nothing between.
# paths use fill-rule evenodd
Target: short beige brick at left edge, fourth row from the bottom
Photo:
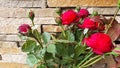
<instances>
[{"instance_id":1,"label":"short beige brick at left edge, fourth row from the bottom","mask_svg":"<svg viewBox=\"0 0 120 68\"><path fill-rule=\"evenodd\" d=\"M0 48L11 48L11 47L17 48L17 43L0 41Z\"/></svg>"}]
</instances>

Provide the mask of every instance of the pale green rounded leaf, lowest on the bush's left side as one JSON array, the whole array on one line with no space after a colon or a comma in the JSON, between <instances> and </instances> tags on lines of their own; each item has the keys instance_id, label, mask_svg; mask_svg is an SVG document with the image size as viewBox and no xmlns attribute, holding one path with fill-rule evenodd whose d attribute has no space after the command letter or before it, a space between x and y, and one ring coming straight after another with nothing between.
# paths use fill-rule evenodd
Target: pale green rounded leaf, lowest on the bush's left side
<instances>
[{"instance_id":1,"label":"pale green rounded leaf, lowest on the bush's left side","mask_svg":"<svg viewBox=\"0 0 120 68\"><path fill-rule=\"evenodd\" d=\"M29 54L27 56L27 64L33 67L35 64L38 63L37 58L33 54Z\"/></svg>"}]
</instances>

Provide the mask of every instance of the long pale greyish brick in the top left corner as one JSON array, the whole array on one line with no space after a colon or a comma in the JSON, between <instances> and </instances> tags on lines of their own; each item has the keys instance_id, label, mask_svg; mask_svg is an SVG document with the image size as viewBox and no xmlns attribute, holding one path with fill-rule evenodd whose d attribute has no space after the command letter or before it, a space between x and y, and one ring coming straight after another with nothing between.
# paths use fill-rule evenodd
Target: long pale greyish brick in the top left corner
<instances>
[{"instance_id":1,"label":"long pale greyish brick in the top left corner","mask_svg":"<svg viewBox=\"0 0 120 68\"><path fill-rule=\"evenodd\" d=\"M1 7L46 7L46 0L0 0Z\"/></svg>"}]
</instances>

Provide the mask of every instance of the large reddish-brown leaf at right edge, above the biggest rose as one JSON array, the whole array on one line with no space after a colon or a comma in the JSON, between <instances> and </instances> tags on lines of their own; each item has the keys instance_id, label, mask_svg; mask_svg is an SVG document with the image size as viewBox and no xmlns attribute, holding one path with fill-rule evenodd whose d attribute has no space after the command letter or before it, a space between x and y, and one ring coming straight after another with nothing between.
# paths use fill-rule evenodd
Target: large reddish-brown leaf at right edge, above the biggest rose
<instances>
[{"instance_id":1,"label":"large reddish-brown leaf at right edge, above the biggest rose","mask_svg":"<svg viewBox=\"0 0 120 68\"><path fill-rule=\"evenodd\" d=\"M109 21L111 20L112 18ZM120 23L114 20L107 34L111 37L112 41L115 41L120 36Z\"/></svg>"}]
</instances>

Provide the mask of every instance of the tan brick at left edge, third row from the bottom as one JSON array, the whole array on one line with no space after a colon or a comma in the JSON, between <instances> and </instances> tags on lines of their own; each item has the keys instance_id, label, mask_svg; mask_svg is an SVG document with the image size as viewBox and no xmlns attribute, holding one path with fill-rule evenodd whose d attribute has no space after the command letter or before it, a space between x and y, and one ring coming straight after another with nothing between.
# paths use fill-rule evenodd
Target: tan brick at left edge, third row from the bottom
<instances>
[{"instance_id":1,"label":"tan brick at left edge, third row from the bottom","mask_svg":"<svg viewBox=\"0 0 120 68\"><path fill-rule=\"evenodd\" d=\"M20 48L16 47L0 48L0 54L19 54L19 53L21 53Z\"/></svg>"}]
</instances>

